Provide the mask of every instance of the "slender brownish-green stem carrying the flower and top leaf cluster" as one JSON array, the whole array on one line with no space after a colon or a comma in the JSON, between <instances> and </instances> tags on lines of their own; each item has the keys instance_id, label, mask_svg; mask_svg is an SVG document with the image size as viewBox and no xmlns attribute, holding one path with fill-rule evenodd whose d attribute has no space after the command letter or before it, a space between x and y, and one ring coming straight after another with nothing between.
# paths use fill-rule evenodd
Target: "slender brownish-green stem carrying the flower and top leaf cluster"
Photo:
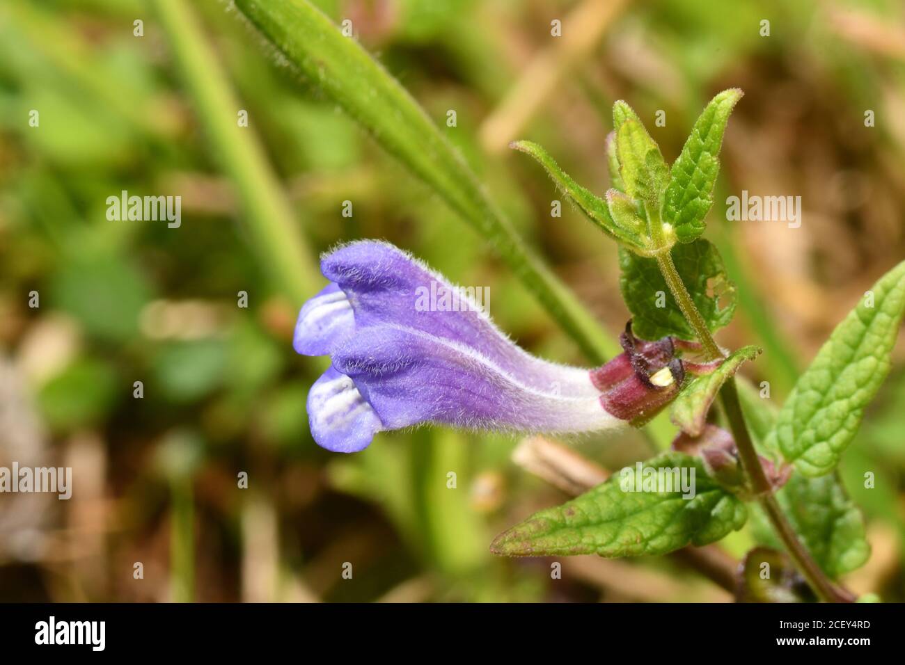
<instances>
[{"instance_id":1,"label":"slender brownish-green stem carrying the flower and top leaf cluster","mask_svg":"<svg viewBox=\"0 0 905 665\"><path fill-rule=\"evenodd\" d=\"M672 292L672 297L679 303L682 315L688 321L695 335L700 340L700 344L704 347L704 353L709 360L723 356L719 350L713 336L710 334L710 328L700 316L700 311L691 299L688 289L679 276L675 264L672 262L672 255L667 250L657 256L657 265L666 280L667 286ZM741 404L738 402L738 388L736 387L735 377L730 376L726 383L723 384L719 391L720 404L726 413L729 421L729 429L732 431L732 437L735 439L738 448L738 457L741 461L742 470L748 474L750 487L757 497L758 503L767 514L770 524L773 525L776 534L786 546L786 551L791 556L795 567L805 577L805 580L814 589L817 597L827 603L853 603L853 595L836 587L829 578L824 575L820 566L814 561L814 558L805 549L805 546L795 534L795 529L788 523L786 516L783 514L776 498L773 496L773 488L764 468L760 464L757 457L757 451L754 448L754 442L751 441L751 435L748 433L748 425L745 423L745 414L742 413Z\"/></svg>"}]
</instances>

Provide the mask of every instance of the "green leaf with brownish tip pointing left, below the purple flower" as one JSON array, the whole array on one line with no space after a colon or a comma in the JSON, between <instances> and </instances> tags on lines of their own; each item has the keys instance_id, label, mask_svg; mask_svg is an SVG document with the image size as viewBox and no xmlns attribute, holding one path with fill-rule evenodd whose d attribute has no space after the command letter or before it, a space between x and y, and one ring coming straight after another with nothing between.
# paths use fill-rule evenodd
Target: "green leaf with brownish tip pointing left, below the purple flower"
<instances>
[{"instance_id":1,"label":"green leaf with brownish tip pointing left, below the purple flower","mask_svg":"<svg viewBox=\"0 0 905 665\"><path fill-rule=\"evenodd\" d=\"M635 483L644 489L648 473L665 469L686 469L687 480L693 470L693 499L683 499L674 484L659 488L672 491L627 490ZM643 462L640 476L626 467L577 499L541 510L496 537L491 550L505 556L662 555L719 540L742 527L747 515L745 505L710 479L699 459L667 452Z\"/></svg>"}]
</instances>

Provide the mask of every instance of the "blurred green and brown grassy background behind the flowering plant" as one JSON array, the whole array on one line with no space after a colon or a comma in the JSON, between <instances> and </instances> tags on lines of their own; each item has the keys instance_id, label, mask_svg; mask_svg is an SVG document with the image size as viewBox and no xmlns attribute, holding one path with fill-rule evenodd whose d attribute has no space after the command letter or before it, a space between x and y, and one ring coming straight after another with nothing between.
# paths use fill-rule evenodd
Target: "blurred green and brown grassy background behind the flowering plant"
<instances>
[{"instance_id":1,"label":"blurred green and brown grassy background behind the flowering plant","mask_svg":"<svg viewBox=\"0 0 905 665\"><path fill-rule=\"evenodd\" d=\"M614 336L628 318L614 244L568 205L551 217L554 186L506 146L536 140L603 193L617 99L672 160L712 94L745 90L708 236L741 299L719 342L765 348L746 373L769 381L777 404L835 323L905 258L898 0L316 4L352 21ZM296 356L291 334L302 299L325 283L316 257L337 242L384 238L453 281L489 286L492 316L520 345L586 360L472 227L228 3L186 5L237 100L224 116L247 110L244 136L262 150L245 166L275 176L286 242L307 264L274 278L153 4L0 5L0 465L71 466L74 478L69 501L0 495L0 600L730 600L672 559L575 557L555 579L552 559L491 556L496 533L567 496L511 460L514 437L424 428L379 434L353 456L314 444L305 397L326 360ZM553 85L539 86L538 72ZM742 189L801 195L801 228L725 222L726 197ZM106 198L122 190L180 195L181 226L109 221ZM905 600L903 369L900 344L843 462L873 547L845 582L886 600ZM669 441L669 423L657 427L573 444L618 469ZM863 488L866 470L874 489ZM751 542L745 530L722 546L738 557Z\"/></svg>"}]
</instances>

